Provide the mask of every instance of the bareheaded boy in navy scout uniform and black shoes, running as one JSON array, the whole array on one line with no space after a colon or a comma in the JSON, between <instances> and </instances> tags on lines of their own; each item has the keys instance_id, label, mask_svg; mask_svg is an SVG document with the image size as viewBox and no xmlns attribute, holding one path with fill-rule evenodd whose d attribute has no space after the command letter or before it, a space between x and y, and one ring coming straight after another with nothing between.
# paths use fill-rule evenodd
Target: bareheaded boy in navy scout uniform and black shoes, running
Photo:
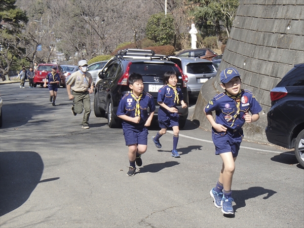
<instances>
[{"instance_id":1,"label":"bareheaded boy in navy scout uniform and black shoes, running","mask_svg":"<svg viewBox=\"0 0 304 228\"><path fill-rule=\"evenodd\" d=\"M147 150L148 129L153 119L155 104L153 96L143 92L142 76L132 73L128 79L130 93L125 94L118 106L117 116L123 119L126 145L129 147L129 171L134 176L136 167L142 165L141 155ZM149 112L148 113L148 109Z\"/></svg>"}]
</instances>

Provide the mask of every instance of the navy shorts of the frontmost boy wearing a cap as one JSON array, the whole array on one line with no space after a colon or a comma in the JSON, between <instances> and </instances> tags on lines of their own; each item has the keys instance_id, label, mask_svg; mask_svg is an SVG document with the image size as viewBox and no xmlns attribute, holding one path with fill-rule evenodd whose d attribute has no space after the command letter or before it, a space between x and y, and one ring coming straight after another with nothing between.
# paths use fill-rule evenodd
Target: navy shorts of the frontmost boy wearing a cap
<instances>
[{"instance_id":1,"label":"navy shorts of the frontmost boy wearing a cap","mask_svg":"<svg viewBox=\"0 0 304 228\"><path fill-rule=\"evenodd\" d=\"M233 157L236 158L239 154L243 137L243 129L239 129L236 132L217 132L212 128L212 141L215 145L215 154L232 152Z\"/></svg>"}]
</instances>

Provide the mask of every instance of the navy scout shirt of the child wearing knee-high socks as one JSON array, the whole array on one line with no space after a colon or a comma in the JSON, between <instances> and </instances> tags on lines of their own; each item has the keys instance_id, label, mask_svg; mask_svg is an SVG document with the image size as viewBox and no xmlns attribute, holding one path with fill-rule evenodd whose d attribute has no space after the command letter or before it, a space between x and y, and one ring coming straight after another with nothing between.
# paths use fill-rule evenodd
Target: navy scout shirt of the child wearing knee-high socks
<instances>
[{"instance_id":1,"label":"navy scout shirt of the child wearing knee-high socks","mask_svg":"<svg viewBox=\"0 0 304 228\"><path fill-rule=\"evenodd\" d=\"M180 88L176 87L176 90L177 90L177 95L178 95L178 99L180 102L181 100L183 100L183 95L182 95ZM177 108L176 107L177 102L176 101L174 102L174 100L175 100L175 94L174 94L174 90L171 87L169 87L168 85L164 85L162 88L160 88L160 90L158 92L158 96L157 96L157 102L163 102L168 107ZM161 119L162 115L173 117L173 116L178 116L178 113L170 112L167 109L160 106L158 115L159 115L159 119Z\"/></svg>"}]
</instances>

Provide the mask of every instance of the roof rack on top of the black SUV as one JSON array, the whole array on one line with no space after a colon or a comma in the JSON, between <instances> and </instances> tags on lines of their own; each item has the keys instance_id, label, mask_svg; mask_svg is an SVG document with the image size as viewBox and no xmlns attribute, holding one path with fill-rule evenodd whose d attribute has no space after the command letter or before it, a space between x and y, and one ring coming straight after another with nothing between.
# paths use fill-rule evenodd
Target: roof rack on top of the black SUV
<instances>
[{"instance_id":1,"label":"roof rack on top of the black SUV","mask_svg":"<svg viewBox=\"0 0 304 228\"><path fill-rule=\"evenodd\" d=\"M125 49L118 51L117 58L149 58L149 59L166 59L165 55L155 54L153 50L144 49Z\"/></svg>"}]
</instances>

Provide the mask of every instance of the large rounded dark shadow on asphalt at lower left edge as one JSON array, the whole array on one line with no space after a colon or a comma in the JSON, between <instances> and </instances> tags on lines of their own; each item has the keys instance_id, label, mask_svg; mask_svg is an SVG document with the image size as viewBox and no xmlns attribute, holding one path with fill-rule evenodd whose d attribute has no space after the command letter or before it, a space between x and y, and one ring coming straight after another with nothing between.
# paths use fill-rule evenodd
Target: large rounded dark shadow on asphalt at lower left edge
<instances>
[{"instance_id":1,"label":"large rounded dark shadow on asphalt at lower left edge","mask_svg":"<svg viewBox=\"0 0 304 228\"><path fill-rule=\"evenodd\" d=\"M26 202L43 170L40 155L33 151L0 153L0 216Z\"/></svg>"}]
</instances>

